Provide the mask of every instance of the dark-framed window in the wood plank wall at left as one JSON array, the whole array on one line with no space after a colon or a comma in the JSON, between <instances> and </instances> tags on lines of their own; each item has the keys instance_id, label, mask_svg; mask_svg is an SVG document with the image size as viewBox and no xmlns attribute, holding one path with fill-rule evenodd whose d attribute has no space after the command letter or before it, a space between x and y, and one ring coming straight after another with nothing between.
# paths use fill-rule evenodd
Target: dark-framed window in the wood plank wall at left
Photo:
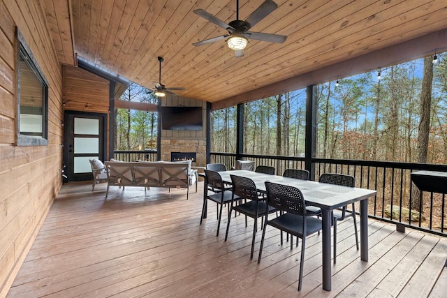
<instances>
[{"instance_id":1,"label":"dark-framed window in the wood plank wall at left","mask_svg":"<svg viewBox=\"0 0 447 298\"><path fill-rule=\"evenodd\" d=\"M17 146L47 145L48 84L17 30Z\"/></svg>"}]
</instances>

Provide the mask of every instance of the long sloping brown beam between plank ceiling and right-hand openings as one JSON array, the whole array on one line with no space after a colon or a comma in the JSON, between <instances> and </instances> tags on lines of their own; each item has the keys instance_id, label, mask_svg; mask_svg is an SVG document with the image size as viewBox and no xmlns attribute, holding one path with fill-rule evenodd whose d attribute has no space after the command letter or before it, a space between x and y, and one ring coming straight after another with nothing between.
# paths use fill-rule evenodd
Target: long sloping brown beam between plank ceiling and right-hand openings
<instances>
[{"instance_id":1,"label":"long sloping brown beam between plank ceiling and right-hand openings","mask_svg":"<svg viewBox=\"0 0 447 298\"><path fill-rule=\"evenodd\" d=\"M239 103L247 103L288 91L302 89L312 84L322 84L323 82L338 80L359 73L366 73L380 67L400 64L405 61L426 57L427 55L434 54L434 52L444 52L446 50L447 29L443 29L398 45L392 45L369 54L354 57L353 59L248 91L244 94L219 100L216 103L212 103L211 110L215 111L225 107L233 107Z\"/></svg>"}]
</instances>

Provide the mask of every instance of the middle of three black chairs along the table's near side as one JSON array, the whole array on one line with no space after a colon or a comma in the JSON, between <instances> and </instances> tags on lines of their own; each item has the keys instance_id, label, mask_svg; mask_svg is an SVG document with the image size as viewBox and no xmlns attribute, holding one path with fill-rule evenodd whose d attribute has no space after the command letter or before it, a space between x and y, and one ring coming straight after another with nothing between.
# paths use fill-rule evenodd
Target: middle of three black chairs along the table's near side
<instances>
[{"instance_id":1,"label":"middle of three black chairs along the table's near side","mask_svg":"<svg viewBox=\"0 0 447 298\"><path fill-rule=\"evenodd\" d=\"M254 240L256 237L256 231L258 230L258 218L263 218L265 214L276 211L273 207L268 207L265 203L265 199L259 196L258 189L253 180L247 177L240 177L230 175L231 182L233 184L233 200L231 200L230 214L228 214L228 224L226 225L225 241L228 238L228 230L230 229L231 212L234 210L254 218L253 237L251 238L251 253L250 259L253 259L254 253ZM246 199L247 202L239 202L235 204L235 200ZM245 226L247 226L247 217L245 218ZM262 224L261 224L262 227Z\"/></svg>"}]
</instances>

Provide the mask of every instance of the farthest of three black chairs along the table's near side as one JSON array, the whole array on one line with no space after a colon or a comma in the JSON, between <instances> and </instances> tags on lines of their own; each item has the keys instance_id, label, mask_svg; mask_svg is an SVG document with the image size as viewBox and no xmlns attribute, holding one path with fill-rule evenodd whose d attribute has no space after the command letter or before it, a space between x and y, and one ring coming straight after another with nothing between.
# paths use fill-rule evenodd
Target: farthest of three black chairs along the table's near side
<instances>
[{"instance_id":1,"label":"farthest of three black chairs along the table's near side","mask_svg":"<svg viewBox=\"0 0 447 298\"><path fill-rule=\"evenodd\" d=\"M222 209L223 205L231 202L233 199L237 200L237 196L233 198L233 192L230 191L230 188L226 187L222 181L222 177L219 172L215 172L212 170L205 170L207 188L206 188L206 199L203 201L202 207L202 216L200 217L200 225L202 224L203 217L205 216L205 211L207 208L207 201L210 200L212 202L217 203L217 233L216 236L219 236L219 230L221 227L221 218L222 218ZM208 194L211 192L212 194ZM220 208L219 208L220 206ZM228 214L229 215L229 214Z\"/></svg>"}]
</instances>

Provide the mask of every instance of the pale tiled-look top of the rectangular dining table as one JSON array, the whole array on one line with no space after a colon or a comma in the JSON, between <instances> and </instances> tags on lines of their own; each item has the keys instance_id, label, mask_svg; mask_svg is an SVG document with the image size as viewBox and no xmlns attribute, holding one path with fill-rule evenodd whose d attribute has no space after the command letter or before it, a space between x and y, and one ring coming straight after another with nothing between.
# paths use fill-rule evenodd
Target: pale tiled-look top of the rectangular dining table
<instances>
[{"instance_id":1,"label":"pale tiled-look top of the rectangular dining table","mask_svg":"<svg viewBox=\"0 0 447 298\"><path fill-rule=\"evenodd\" d=\"M251 172L247 170L232 170L219 172L222 180L231 184L230 174L248 177L254 181L258 191L265 193L265 181L295 186L304 195L306 203L322 209L336 209L352 202L365 200L376 195L376 191L365 188L337 186L310 180L300 180L277 175Z\"/></svg>"}]
</instances>

